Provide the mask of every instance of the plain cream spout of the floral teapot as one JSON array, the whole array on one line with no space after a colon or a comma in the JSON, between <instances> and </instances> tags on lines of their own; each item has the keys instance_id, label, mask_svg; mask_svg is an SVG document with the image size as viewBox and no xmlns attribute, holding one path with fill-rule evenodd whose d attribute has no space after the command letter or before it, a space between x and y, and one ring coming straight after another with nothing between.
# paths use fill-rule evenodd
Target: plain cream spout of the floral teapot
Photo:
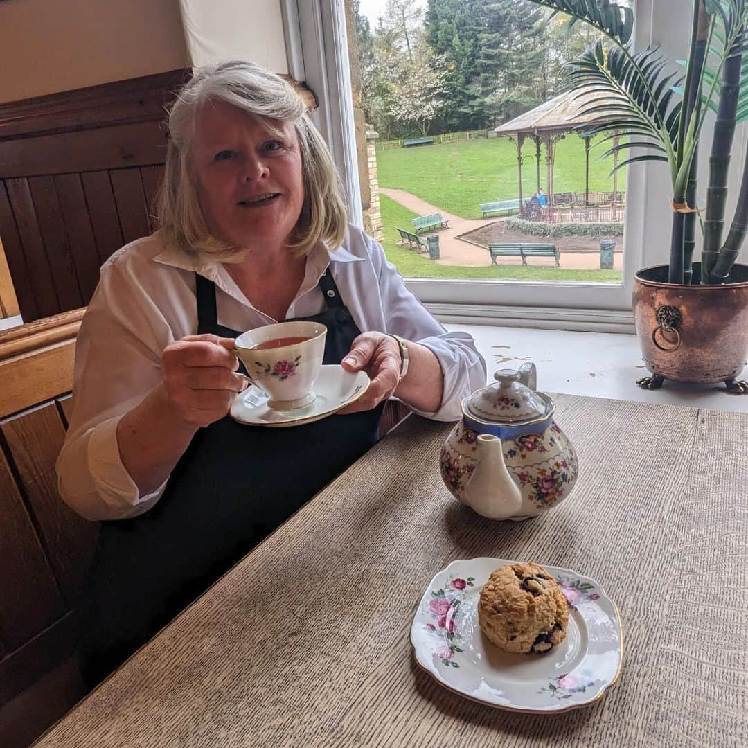
<instances>
[{"instance_id":1,"label":"plain cream spout of the floral teapot","mask_svg":"<svg viewBox=\"0 0 748 748\"><path fill-rule=\"evenodd\" d=\"M465 499L484 517L511 517L522 505L522 492L506 469L501 440L491 434L480 434L477 446L478 465L465 488Z\"/></svg>"}]
</instances>

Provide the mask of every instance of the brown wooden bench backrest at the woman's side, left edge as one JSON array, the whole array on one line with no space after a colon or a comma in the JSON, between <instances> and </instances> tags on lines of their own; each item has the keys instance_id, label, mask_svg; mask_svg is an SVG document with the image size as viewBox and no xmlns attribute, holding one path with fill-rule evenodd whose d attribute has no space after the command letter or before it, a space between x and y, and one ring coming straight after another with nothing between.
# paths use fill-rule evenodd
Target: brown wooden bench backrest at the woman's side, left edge
<instances>
[{"instance_id":1,"label":"brown wooden bench backrest at the woman's side, left edge","mask_svg":"<svg viewBox=\"0 0 748 748\"><path fill-rule=\"evenodd\" d=\"M98 524L60 500L55 461L70 414L83 310L0 334L0 744L19 745L82 695L75 608ZM44 679L63 668L54 698ZM19 715L24 694L38 690ZM55 700L56 699L56 700ZM21 710L22 711L22 710ZM34 720L37 723L34 725ZM20 731L20 732L19 732Z\"/></svg>"}]
</instances>

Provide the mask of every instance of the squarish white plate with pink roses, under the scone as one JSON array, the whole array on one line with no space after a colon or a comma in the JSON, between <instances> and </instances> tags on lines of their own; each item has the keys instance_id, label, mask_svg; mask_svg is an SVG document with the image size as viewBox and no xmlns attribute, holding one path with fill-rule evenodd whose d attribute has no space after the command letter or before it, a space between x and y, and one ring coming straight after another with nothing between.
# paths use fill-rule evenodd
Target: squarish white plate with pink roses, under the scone
<instances>
[{"instance_id":1,"label":"squarish white plate with pink roses, under the scone","mask_svg":"<svg viewBox=\"0 0 748 748\"><path fill-rule=\"evenodd\" d=\"M591 704L619 677L623 632L616 604L576 571L545 566L569 603L566 639L545 654L512 654L480 631L478 598L491 572L516 563L453 561L429 584L411 626L416 662L444 687L512 711L555 714Z\"/></svg>"}]
</instances>

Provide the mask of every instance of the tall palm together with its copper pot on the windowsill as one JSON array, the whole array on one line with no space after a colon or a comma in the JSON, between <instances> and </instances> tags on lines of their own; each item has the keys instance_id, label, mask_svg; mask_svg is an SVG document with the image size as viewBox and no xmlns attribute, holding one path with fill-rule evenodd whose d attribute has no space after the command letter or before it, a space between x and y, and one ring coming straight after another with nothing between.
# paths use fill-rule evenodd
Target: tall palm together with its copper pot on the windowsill
<instances>
[{"instance_id":1,"label":"tall palm together with its copper pot on the windowsill","mask_svg":"<svg viewBox=\"0 0 748 748\"><path fill-rule=\"evenodd\" d=\"M607 41L589 47L570 64L568 86L598 95L583 110L599 113L591 134L616 129L628 137L604 153L643 151L618 168L661 161L672 178L669 264L640 270L634 319L651 377L637 384L655 389L663 379L736 381L748 358L748 266L736 263L748 229L748 157L742 165L735 215L725 236L727 176L735 125L748 119L748 0L683 0L692 13L682 74L657 49L634 52L634 14L621 1L533 0L584 21ZM679 4L680 6L680 4ZM683 63L681 63L682 65ZM711 144L702 142L705 117L716 114ZM614 135L607 135L610 140ZM699 150L709 147L710 174L704 206L696 202ZM692 261L696 221L702 226L700 263Z\"/></svg>"}]
</instances>

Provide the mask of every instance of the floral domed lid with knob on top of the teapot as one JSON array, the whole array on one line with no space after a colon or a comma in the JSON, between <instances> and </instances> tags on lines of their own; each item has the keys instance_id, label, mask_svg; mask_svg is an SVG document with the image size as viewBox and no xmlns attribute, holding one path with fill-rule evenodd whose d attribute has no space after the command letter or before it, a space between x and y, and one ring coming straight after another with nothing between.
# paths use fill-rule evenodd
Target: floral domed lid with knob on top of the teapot
<instances>
[{"instance_id":1,"label":"floral domed lid with knob on top of the teapot","mask_svg":"<svg viewBox=\"0 0 748 748\"><path fill-rule=\"evenodd\" d=\"M465 401L466 415L483 423L519 425L553 413L551 399L522 384L519 372L500 369L494 379L497 384L489 384Z\"/></svg>"}]
</instances>

